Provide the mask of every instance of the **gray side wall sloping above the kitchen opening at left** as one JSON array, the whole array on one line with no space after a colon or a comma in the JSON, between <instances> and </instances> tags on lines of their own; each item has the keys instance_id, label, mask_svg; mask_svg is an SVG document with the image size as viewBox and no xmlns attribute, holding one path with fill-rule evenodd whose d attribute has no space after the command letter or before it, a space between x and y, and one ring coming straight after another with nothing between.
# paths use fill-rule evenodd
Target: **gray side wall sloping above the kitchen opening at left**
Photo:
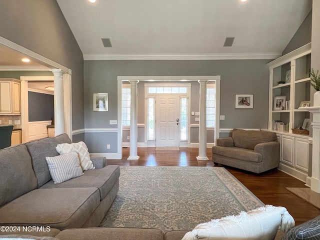
<instances>
[{"instance_id":1,"label":"gray side wall sloping above the kitchen opening at left","mask_svg":"<svg viewBox=\"0 0 320 240\"><path fill-rule=\"evenodd\" d=\"M57 2L0 0L0 35L72 70L72 128L83 128L83 55Z\"/></svg>"}]
</instances>

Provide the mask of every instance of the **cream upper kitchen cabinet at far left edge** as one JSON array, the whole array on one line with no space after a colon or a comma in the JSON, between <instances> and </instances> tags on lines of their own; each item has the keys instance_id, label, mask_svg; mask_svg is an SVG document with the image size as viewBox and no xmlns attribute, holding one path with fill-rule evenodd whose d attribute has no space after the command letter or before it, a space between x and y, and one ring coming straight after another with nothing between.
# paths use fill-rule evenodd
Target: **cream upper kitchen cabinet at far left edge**
<instances>
[{"instance_id":1,"label":"cream upper kitchen cabinet at far left edge","mask_svg":"<svg viewBox=\"0 0 320 240\"><path fill-rule=\"evenodd\" d=\"M21 114L20 80L0 79L0 115Z\"/></svg>"}]
</instances>

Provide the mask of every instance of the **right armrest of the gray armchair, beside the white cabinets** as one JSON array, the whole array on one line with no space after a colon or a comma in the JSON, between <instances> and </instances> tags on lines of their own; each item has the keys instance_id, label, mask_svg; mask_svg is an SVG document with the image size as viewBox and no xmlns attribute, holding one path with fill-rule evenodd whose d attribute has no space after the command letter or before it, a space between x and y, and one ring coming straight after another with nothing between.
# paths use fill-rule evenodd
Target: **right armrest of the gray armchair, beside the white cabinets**
<instances>
[{"instance_id":1,"label":"right armrest of the gray armchair, beside the white cabinets","mask_svg":"<svg viewBox=\"0 0 320 240\"><path fill-rule=\"evenodd\" d=\"M258 143L254 146L254 152L258 152L262 155L262 161L280 161L280 143L277 141Z\"/></svg>"}]
</instances>

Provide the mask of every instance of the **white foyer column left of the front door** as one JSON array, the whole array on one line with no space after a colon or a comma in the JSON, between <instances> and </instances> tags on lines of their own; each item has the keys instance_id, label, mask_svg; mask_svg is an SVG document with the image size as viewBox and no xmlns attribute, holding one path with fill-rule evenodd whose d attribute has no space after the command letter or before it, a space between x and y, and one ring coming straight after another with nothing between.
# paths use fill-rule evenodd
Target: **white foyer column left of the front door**
<instances>
[{"instance_id":1,"label":"white foyer column left of the front door","mask_svg":"<svg viewBox=\"0 0 320 240\"><path fill-rule=\"evenodd\" d=\"M138 141L138 127L137 127L137 84L139 80L130 80L130 155L128 160L137 160L137 141Z\"/></svg>"}]
</instances>

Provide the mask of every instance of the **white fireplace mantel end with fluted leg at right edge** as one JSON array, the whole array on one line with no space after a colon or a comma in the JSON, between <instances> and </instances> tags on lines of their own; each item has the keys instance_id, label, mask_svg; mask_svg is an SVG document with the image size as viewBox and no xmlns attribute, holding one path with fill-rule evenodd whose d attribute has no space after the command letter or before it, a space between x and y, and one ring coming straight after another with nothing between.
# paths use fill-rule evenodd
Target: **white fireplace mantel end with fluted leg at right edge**
<instances>
[{"instance_id":1,"label":"white fireplace mantel end with fluted leg at right edge","mask_svg":"<svg viewBox=\"0 0 320 240\"><path fill-rule=\"evenodd\" d=\"M320 193L320 106L299 107L313 113L311 190Z\"/></svg>"}]
</instances>

